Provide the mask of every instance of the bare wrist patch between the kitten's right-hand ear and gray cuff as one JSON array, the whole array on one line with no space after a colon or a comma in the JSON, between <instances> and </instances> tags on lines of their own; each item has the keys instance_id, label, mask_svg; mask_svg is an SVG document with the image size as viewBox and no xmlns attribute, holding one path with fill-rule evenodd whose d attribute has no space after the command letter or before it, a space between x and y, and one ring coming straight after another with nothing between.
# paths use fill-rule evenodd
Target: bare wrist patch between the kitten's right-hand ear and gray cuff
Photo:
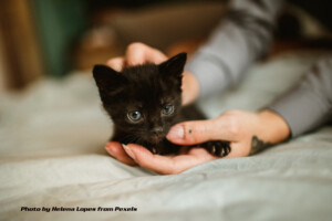
<instances>
[{"instance_id":1,"label":"bare wrist patch between the kitten's right-hand ear and gray cuff","mask_svg":"<svg viewBox=\"0 0 332 221\"><path fill-rule=\"evenodd\" d=\"M185 72L183 77L183 105L187 105L197 99L199 95L199 83L197 77Z\"/></svg>"}]
</instances>

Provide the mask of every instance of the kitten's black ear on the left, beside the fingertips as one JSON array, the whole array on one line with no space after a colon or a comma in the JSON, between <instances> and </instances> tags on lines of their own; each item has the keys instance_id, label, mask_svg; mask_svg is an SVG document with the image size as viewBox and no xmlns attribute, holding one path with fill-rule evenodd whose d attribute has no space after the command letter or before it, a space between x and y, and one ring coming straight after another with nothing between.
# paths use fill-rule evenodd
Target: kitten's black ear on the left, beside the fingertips
<instances>
[{"instance_id":1,"label":"kitten's black ear on the left, beside the fingertips","mask_svg":"<svg viewBox=\"0 0 332 221\"><path fill-rule=\"evenodd\" d=\"M126 81L121 73L102 64L94 65L92 73L101 91L116 91Z\"/></svg>"}]
</instances>

